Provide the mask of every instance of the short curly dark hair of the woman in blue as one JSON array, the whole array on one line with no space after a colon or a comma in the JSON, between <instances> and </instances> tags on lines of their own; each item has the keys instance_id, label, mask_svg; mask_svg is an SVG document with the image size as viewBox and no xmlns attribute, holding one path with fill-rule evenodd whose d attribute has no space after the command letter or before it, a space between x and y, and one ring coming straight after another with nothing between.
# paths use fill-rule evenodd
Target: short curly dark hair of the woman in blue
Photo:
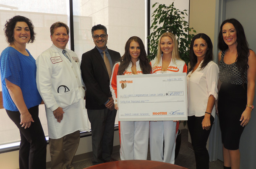
<instances>
[{"instance_id":1,"label":"short curly dark hair of the woman in blue","mask_svg":"<svg viewBox=\"0 0 256 169\"><path fill-rule=\"evenodd\" d=\"M29 39L28 43L33 43L35 40L35 35L36 35L36 33L34 32L34 25L29 18L20 16L20 15L16 15L13 18L6 20L5 28L3 30L5 31L5 36L6 36L8 43L12 44L14 42L13 30L14 30L17 22L25 22L29 26L30 39Z\"/></svg>"}]
</instances>

